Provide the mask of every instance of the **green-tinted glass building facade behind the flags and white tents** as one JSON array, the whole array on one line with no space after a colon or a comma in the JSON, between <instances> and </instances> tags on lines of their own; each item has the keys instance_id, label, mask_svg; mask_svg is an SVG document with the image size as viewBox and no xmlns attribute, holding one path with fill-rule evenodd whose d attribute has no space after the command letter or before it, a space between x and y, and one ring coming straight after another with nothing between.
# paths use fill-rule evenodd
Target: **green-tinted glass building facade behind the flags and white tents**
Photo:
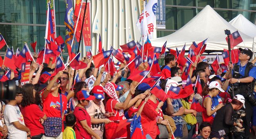
<instances>
[{"instance_id":1,"label":"green-tinted glass building facade behind the flags and white tents","mask_svg":"<svg viewBox=\"0 0 256 139\"><path fill-rule=\"evenodd\" d=\"M24 41L28 44L37 41L37 48L43 48L46 0L0 0L0 4L0 33L7 44L16 51L17 47L23 47ZM227 21L242 14L252 23L256 23L256 0L166 0L166 29L157 29L157 37L180 29L206 5L210 5ZM65 0L55 0L56 33L63 39L65 8ZM1 55L5 52L4 48L0 51Z\"/></svg>"}]
</instances>

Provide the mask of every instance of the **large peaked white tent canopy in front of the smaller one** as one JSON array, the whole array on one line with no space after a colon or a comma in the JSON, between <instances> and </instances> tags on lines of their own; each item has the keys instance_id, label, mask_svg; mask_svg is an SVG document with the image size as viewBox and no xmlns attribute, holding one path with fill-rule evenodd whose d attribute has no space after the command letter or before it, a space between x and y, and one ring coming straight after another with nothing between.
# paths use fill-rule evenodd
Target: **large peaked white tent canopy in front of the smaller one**
<instances>
[{"instance_id":1,"label":"large peaked white tent canopy in front of the smaller one","mask_svg":"<svg viewBox=\"0 0 256 139\"><path fill-rule=\"evenodd\" d=\"M180 28L175 33L150 40L153 46L161 47L167 40L168 48L181 48L186 42L186 50L193 41L199 43L208 38L206 50L223 50L228 48L225 38L224 30L229 29L231 33L237 31L235 27L230 25L217 12L215 12L209 5L207 5L200 13L191 19L186 25ZM252 48L253 38L239 32L244 43L238 46L245 48Z\"/></svg>"}]
</instances>

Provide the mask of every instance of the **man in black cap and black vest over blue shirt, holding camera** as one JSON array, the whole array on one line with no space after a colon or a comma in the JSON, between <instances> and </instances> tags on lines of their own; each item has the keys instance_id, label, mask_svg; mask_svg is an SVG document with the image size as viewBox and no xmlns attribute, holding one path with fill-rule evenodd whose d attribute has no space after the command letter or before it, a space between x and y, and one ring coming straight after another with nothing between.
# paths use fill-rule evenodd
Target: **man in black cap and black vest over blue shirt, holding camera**
<instances>
[{"instance_id":1,"label":"man in black cap and black vest over blue shirt, holding camera","mask_svg":"<svg viewBox=\"0 0 256 139\"><path fill-rule=\"evenodd\" d=\"M231 78L230 70L226 73L226 79L230 79L230 83L233 83L233 91L234 95L240 94L243 95L246 99L245 101L245 107L246 109L246 116L243 119L243 126L245 128L244 133L241 133L241 135L245 138L249 138L250 135L250 120L252 118L252 104L250 102L253 102L254 99L251 99L250 96L252 95L252 89L254 85L254 76L256 72L256 67L249 62L249 60L252 58L252 51L250 49L242 49L239 48L240 54L239 54L239 63L236 63L234 66L232 64L229 64L229 68L232 68L232 74L233 78ZM231 89L231 90L230 90ZM229 89L229 93L231 93L231 97L233 97L232 94L232 87ZM250 98L250 99L248 99ZM254 98L254 97L253 97ZM239 135L240 136L240 135Z\"/></svg>"}]
</instances>

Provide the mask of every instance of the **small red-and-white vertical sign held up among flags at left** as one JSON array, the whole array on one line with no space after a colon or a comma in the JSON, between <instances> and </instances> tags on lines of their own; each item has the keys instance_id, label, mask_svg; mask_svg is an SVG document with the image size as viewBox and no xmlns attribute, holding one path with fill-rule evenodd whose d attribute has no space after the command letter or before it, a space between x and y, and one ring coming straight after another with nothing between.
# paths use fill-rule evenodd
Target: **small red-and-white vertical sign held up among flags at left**
<instances>
[{"instance_id":1,"label":"small red-and-white vertical sign held up among flags at left","mask_svg":"<svg viewBox=\"0 0 256 139\"><path fill-rule=\"evenodd\" d=\"M30 62L21 64L21 86L29 83Z\"/></svg>"}]
</instances>

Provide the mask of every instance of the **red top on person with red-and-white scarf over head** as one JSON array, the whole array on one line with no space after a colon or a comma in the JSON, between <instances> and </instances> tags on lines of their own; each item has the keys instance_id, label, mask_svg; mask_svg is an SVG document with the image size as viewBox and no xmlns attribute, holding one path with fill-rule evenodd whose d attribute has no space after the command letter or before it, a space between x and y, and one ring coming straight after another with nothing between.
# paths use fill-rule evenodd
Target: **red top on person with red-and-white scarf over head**
<instances>
[{"instance_id":1,"label":"red top on person with red-and-white scarf over head","mask_svg":"<svg viewBox=\"0 0 256 139\"><path fill-rule=\"evenodd\" d=\"M116 110L114 106L116 105L118 101L110 98L107 101L106 107L107 112L114 112L115 116L109 117L109 120L125 120L124 112L123 110ZM105 125L105 137L106 139L120 139L120 138L126 138L127 137L127 129L126 127L123 127L120 131L115 132L116 128L118 127L117 123L111 122L109 124Z\"/></svg>"}]
</instances>

